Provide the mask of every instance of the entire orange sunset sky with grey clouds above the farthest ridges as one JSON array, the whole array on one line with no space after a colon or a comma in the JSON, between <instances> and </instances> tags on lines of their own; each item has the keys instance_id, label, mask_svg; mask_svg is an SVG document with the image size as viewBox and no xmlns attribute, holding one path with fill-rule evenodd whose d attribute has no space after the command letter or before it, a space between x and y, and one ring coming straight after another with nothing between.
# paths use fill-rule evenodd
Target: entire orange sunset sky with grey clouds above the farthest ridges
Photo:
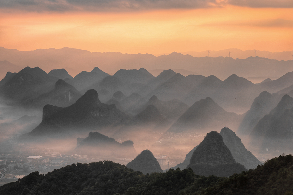
<instances>
[{"instance_id":1,"label":"entire orange sunset sky with grey clouds above the farthest ridges","mask_svg":"<svg viewBox=\"0 0 293 195\"><path fill-rule=\"evenodd\" d=\"M164 54L293 50L292 0L1 0L0 46Z\"/></svg>"}]
</instances>

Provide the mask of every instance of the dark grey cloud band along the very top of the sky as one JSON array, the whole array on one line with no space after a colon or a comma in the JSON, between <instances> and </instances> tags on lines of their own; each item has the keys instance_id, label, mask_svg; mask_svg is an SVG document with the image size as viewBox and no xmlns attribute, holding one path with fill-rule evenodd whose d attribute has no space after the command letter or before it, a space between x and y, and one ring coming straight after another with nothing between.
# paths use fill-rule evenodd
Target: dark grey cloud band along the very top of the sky
<instances>
[{"instance_id":1,"label":"dark grey cloud band along the very top of the sky","mask_svg":"<svg viewBox=\"0 0 293 195\"><path fill-rule=\"evenodd\" d=\"M293 7L292 0L1 0L0 8L23 11L136 11L172 8Z\"/></svg>"}]
</instances>

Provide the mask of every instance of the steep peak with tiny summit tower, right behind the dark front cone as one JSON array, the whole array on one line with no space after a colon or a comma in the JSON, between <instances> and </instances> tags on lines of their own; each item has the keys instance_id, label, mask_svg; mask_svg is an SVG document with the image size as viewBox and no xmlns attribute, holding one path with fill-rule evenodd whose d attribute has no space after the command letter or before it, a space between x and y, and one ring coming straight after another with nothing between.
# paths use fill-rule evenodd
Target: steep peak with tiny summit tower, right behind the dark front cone
<instances>
[{"instance_id":1,"label":"steep peak with tiny summit tower, right behind the dark front cone","mask_svg":"<svg viewBox=\"0 0 293 195\"><path fill-rule=\"evenodd\" d=\"M254 169L262 163L242 144L241 139L228 127L224 127L220 135L223 137L224 144L231 151L236 163L244 165L246 169Z\"/></svg>"}]
</instances>

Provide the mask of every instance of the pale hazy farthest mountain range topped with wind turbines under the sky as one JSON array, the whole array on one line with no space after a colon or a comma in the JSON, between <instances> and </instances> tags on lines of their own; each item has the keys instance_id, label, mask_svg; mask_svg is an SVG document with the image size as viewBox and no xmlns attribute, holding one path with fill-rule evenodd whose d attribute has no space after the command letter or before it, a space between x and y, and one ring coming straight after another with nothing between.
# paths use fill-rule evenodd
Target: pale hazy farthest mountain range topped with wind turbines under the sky
<instances>
[{"instance_id":1,"label":"pale hazy farthest mountain range topped with wind turbines under the sky","mask_svg":"<svg viewBox=\"0 0 293 195\"><path fill-rule=\"evenodd\" d=\"M250 51L254 56L254 52ZM260 51L257 51L260 53ZM206 52L207 53L207 52ZM229 52L226 52L227 56ZM236 54L236 52L233 52ZM290 56L293 52L290 53ZM287 55L287 54L286 54ZM256 76L282 76L293 71L291 58L283 58L285 61L277 61L260 56L245 57L244 59L233 59L228 57L193 57L173 52L169 55L154 56L151 54L121 54L115 52L89 52L80 49L37 49L35 51L18 51L16 49L5 49L0 47L0 61L8 61L21 68L32 64L40 66L43 70L68 69L71 76L75 76L82 70L90 71L94 67L100 67L110 75L117 70L139 69L148 67L154 69L182 69L196 72L197 74L209 76L215 75L226 78L232 74L240 77ZM232 55L233 56L233 55ZM260 57L258 57L260 56ZM245 68L244 68L245 67ZM9 71L9 70L8 70ZM8 72L6 71L6 72ZM11 71L11 70L10 70Z\"/></svg>"}]
</instances>

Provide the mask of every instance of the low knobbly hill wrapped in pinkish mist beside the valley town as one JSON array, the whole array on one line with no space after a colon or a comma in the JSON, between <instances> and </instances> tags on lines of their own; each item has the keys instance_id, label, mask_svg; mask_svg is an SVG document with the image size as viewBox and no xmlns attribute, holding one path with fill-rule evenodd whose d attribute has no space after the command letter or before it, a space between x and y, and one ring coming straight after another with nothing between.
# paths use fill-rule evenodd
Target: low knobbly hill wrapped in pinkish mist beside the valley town
<instances>
[{"instance_id":1,"label":"low knobbly hill wrapped in pinkish mist beside the valley town","mask_svg":"<svg viewBox=\"0 0 293 195\"><path fill-rule=\"evenodd\" d=\"M86 138L77 138L77 146L74 152L92 155L92 156L115 156L115 157L133 157L136 151L133 147L133 141L127 140L123 143L105 136L99 132L90 132Z\"/></svg>"}]
</instances>

